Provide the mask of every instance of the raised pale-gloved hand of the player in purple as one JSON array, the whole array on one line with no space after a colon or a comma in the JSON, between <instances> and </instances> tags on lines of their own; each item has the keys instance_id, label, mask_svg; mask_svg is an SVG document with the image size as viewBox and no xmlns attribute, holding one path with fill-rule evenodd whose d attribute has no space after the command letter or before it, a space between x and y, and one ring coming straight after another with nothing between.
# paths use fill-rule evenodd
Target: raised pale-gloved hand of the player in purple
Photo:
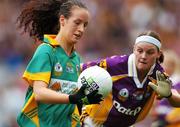
<instances>
[{"instance_id":1,"label":"raised pale-gloved hand of the player in purple","mask_svg":"<svg viewBox=\"0 0 180 127\"><path fill-rule=\"evenodd\" d=\"M160 71L156 71L156 78L156 84L149 82L148 85L159 95L159 98L171 97L171 81Z\"/></svg>"}]
</instances>

